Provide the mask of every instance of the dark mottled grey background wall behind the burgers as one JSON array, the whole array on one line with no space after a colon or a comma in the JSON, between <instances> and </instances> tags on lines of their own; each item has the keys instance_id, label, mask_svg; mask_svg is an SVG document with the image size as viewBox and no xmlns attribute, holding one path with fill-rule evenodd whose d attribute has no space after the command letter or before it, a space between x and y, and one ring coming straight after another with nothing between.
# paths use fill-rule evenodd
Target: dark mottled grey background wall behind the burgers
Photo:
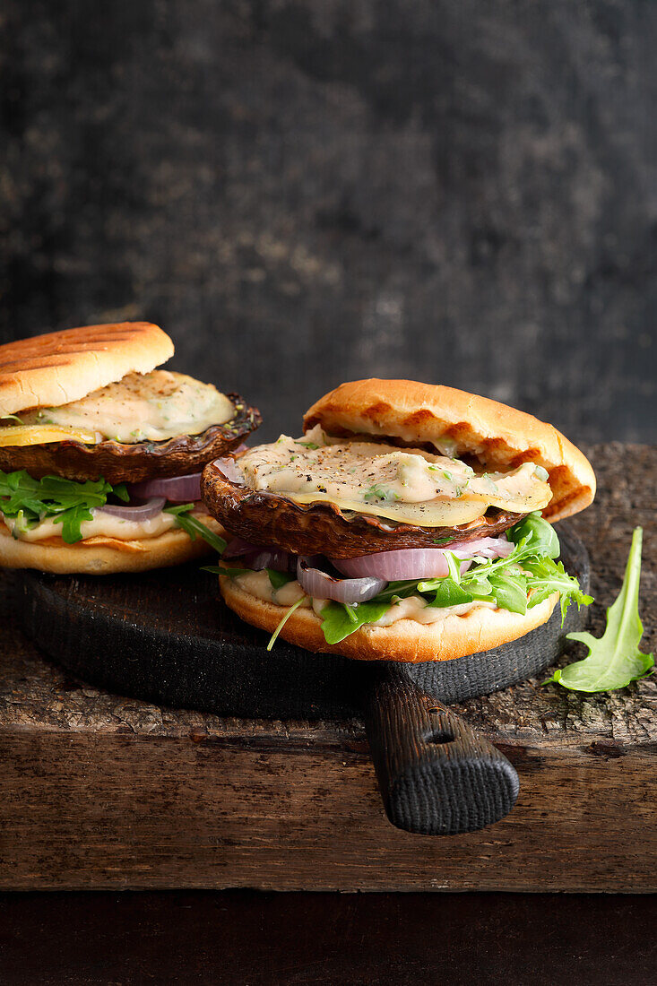
<instances>
[{"instance_id":1,"label":"dark mottled grey background wall behind the burgers","mask_svg":"<svg viewBox=\"0 0 657 986\"><path fill-rule=\"evenodd\" d=\"M344 379L657 439L657 4L2 0L1 337L150 318L266 435Z\"/></svg>"}]
</instances>

